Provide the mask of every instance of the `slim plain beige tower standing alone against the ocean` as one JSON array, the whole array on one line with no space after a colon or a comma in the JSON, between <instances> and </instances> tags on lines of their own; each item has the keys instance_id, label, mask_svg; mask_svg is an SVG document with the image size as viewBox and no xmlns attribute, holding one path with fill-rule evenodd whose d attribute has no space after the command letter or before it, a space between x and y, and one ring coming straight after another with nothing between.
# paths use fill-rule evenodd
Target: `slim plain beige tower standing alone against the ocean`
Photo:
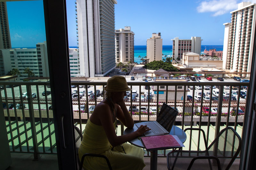
<instances>
[{"instance_id":1,"label":"slim plain beige tower standing alone against the ocean","mask_svg":"<svg viewBox=\"0 0 256 170\"><path fill-rule=\"evenodd\" d=\"M149 63L152 61L162 60L163 39L161 33L152 33L152 37L147 39L147 59Z\"/></svg>"}]
</instances>

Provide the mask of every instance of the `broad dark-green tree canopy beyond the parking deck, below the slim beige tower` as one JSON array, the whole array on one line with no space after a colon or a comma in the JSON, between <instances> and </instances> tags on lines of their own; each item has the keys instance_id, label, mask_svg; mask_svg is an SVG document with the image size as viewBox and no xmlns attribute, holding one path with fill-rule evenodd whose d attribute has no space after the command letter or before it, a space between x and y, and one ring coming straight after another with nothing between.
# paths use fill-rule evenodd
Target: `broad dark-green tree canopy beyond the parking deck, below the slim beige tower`
<instances>
[{"instance_id":1,"label":"broad dark-green tree canopy beyond the parking deck, below the slim beige tower","mask_svg":"<svg viewBox=\"0 0 256 170\"><path fill-rule=\"evenodd\" d=\"M164 61L152 61L148 64L145 64L145 66L143 66L142 68L146 68L149 70L164 69L165 71L179 71L172 65L172 63L167 63Z\"/></svg>"}]
</instances>

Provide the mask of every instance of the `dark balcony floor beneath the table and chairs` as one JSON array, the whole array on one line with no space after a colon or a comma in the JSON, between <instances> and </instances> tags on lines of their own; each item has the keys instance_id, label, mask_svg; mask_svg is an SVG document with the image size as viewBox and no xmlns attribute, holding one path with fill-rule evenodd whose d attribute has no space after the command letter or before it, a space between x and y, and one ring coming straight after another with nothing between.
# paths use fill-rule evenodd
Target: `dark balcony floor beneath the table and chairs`
<instances>
[{"instance_id":1,"label":"dark balcony floor beneath the table and chairs","mask_svg":"<svg viewBox=\"0 0 256 170\"><path fill-rule=\"evenodd\" d=\"M7 170L59 169L57 155L41 154L40 159L37 161L33 160L33 154L30 153L11 153L11 156L12 166L7 168ZM158 158L157 160L157 169L166 170L166 158ZM145 157L144 161L146 166L143 169L150 169L150 157ZM240 159L236 159L230 169L238 170L239 162Z\"/></svg>"}]
</instances>

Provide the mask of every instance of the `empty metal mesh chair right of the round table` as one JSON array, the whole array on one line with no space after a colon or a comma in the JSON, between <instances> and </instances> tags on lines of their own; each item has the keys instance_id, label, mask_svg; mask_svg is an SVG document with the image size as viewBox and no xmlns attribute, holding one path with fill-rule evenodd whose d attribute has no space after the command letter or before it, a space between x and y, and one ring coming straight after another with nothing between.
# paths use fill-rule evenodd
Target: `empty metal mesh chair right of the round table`
<instances>
[{"instance_id":1,"label":"empty metal mesh chair right of the round table","mask_svg":"<svg viewBox=\"0 0 256 170\"><path fill-rule=\"evenodd\" d=\"M167 154L167 168L169 170L182 169L229 169L241 150L241 137L236 131L227 127L207 147L203 129L187 128L186 130L200 130L203 132L205 151L175 150Z\"/></svg>"}]
</instances>

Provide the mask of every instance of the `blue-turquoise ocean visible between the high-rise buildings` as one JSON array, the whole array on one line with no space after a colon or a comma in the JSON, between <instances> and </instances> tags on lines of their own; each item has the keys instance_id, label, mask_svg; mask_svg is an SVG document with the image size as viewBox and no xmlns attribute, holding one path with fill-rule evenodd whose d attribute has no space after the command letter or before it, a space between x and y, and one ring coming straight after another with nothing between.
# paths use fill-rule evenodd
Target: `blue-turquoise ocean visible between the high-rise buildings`
<instances>
[{"instance_id":1,"label":"blue-turquoise ocean visible between the high-rise buildings","mask_svg":"<svg viewBox=\"0 0 256 170\"><path fill-rule=\"evenodd\" d=\"M76 46L74 47L69 47L69 48L76 48ZM216 49L216 51L223 51L223 45L202 45L201 46L201 54L204 53L204 49L206 50L210 50L210 49ZM172 57L172 45L163 45L163 56L162 58L164 59L165 55L167 55L167 57ZM140 63L140 58L139 55L144 57L147 55L147 46L143 45L143 46L134 46L134 62L136 63Z\"/></svg>"}]
</instances>

